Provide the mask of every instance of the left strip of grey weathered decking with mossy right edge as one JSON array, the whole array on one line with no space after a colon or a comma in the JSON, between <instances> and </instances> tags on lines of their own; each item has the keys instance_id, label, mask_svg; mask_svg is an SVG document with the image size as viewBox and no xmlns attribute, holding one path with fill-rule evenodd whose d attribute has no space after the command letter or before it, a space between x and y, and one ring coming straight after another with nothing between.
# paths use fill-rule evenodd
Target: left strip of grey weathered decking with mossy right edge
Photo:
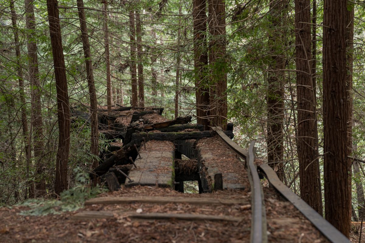
<instances>
[{"instance_id":1,"label":"left strip of grey weathered decking with mossy right edge","mask_svg":"<svg viewBox=\"0 0 365 243\"><path fill-rule=\"evenodd\" d=\"M174 182L175 146L168 141L149 141L146 149L141 146L141 158L134 161L137 168L129 172L133 181L126 181L126 186L158 185L172 187Z\"/></svg>"}]
</instances>

